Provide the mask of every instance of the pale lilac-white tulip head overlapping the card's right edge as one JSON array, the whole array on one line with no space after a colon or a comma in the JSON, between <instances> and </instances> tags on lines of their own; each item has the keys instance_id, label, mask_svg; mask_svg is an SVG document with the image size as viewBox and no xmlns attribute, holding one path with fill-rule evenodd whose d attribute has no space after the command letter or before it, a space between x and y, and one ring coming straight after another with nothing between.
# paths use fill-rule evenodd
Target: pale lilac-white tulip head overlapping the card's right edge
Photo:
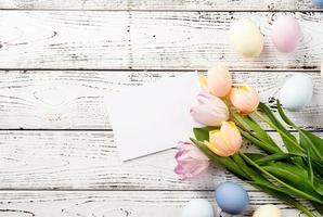
<instances>
[{"instance_id":1,"label":"pale lilac-white tulip head overlapping the card's right edge","mask_svg":"<svg viewBox=\"0 0 323 217\"><path fill-rule=\"evenodd\" d=\"M229 111L224 102L207 92L197 95L198 105L191 108L192 117L205 126L220 126L229 118Z\"/></svg>"}]
</instances>

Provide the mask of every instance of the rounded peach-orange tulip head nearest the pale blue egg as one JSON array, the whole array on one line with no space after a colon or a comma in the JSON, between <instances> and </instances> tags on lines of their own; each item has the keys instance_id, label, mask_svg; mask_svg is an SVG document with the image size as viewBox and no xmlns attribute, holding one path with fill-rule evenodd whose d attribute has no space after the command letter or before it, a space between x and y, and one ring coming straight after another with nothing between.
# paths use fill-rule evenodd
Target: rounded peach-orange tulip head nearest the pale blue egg
<instances>
[{"instance_id":1,"label":"rounded peach-orange tulip head nearest the pale blue egg","mask_svg":"<svg viewBox=\"0 0 323 217\"><path fill-rule=\"evenodd\" d=\"M259 95L250 86L232 88L230 101L233 106L243 115L248 115L259 105Z\"/></svg>"}]
</instances>

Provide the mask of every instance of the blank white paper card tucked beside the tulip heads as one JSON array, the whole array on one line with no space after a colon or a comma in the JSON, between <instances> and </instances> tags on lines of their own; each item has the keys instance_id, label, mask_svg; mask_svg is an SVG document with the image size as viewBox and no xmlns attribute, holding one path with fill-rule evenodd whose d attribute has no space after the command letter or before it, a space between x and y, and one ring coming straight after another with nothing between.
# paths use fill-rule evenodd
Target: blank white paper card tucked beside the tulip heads
<instances>
[{"instance_id":1,"label":"blank white paper card tucked beside the tulip heads","mask_svg":"<svg viewBox=\"0 0 323 217\"><path fill-rule=\"evenodd\" d=\"M120 158L137 158L188 140L194 126L190 108L198 91L197 73L188 73L107 95Z\"/></svg>"}]
</instances>

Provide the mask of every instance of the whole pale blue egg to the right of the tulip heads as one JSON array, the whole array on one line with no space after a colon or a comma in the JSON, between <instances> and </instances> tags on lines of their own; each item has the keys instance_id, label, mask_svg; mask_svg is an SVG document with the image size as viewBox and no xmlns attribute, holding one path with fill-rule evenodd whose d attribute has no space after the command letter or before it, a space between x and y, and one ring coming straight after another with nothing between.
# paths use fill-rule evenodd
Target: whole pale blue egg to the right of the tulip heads
<instances>
[{"instance_id":1,"label":"whole pale blue egg to the right of the tulip heads","mask_svg":"<svg viewBox=\"0 0 323 217\"><path fill-rule=\"evenodd\" d=\"M280 101L289 111L299 111L312 99L313 82L307 75L294 75L288 78L280 91Z\"/></svg>"}]
</instances>

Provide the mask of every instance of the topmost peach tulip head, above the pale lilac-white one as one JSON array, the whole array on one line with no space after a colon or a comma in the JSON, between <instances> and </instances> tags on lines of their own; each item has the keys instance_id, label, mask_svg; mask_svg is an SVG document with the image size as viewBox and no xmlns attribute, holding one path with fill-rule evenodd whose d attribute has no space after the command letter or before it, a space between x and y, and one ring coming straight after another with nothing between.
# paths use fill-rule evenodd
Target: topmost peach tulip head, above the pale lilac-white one
<instances>
[{"instance_id":1,"label":"topmost peach tulip head, above the pale lilac-white one","mask_svg":"<svg viewBox=\"0 0 323 217\"><path fill-rule=\"evenodd\" d=\"M207 90L218 97L225 97L232 87L232 79L228 67L218 65L207 73Z\"/></svg>"}]
</instances>

